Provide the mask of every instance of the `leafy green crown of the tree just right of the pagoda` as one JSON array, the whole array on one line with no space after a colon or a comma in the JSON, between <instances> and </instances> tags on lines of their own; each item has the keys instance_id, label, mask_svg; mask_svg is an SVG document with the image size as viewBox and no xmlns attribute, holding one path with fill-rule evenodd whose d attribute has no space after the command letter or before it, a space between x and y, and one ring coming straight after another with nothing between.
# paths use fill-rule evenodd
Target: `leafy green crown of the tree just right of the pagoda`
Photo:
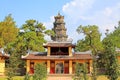
<instances>
[{"instance_id":1,"label":"leafy green crown of the tree just right of the pagoda","mask_svg":"<svg viewBox=\"0 0 120 80\"><path fill-rule=\"evenodd\" d=\"M102 43L100 41L101 34L98 31L98 26L96 25L88 25L88 26L82 26L80 25L77 28L77 32L83 33L85 35L85 38L82 40L79 40L77 42L76 51L87 51L87 50L93 50L92 46L96 50L102 50Z\"/></svg>"}]
</instances>

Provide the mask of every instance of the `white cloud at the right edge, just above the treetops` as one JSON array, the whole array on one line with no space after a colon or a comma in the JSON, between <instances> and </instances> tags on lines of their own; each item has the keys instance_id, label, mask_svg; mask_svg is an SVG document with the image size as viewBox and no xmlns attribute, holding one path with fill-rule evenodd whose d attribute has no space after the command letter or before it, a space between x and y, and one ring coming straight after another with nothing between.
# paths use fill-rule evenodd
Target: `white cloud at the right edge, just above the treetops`
<instances>
[{"instance_id":1,"label":"white cloud at the right edge, just above the treetops","mask_svg":"<svg viewBox=\"0 0 120 80\"><path fill-rule=\"evenodd\" d=\"M97 24L103 32L103 30L109 29L114 30L114 26L117 25L120 20L120 5L113 7L106 7L101 11L97 11L95 15L91 17L89 23Z\"/></svg>"}]
</instances>

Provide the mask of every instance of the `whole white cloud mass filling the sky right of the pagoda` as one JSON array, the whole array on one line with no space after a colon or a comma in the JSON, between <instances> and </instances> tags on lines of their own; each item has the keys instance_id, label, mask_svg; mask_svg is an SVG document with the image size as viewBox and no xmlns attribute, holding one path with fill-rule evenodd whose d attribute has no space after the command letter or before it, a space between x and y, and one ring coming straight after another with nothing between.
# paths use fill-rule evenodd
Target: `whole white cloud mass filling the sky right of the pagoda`
<instances>
[{"instance_id":1,"label":"whole white cloud mass filling the sky right of the pagoda","mask_svg":"<svg viewBox=\"0 0 120 80\"><path fill-rule=\"evenodd\" d=\"M76 31L78 25L95 24L99 26L103 36L106 29L114 30L114 26L120 20L120 2L116 2L112 6L99 4L101 9L95 8L95 4L99 4L97 0L72 0L63 6L62 11L67 16L66 23L68 23L67 26L70 28L68 29L70 36L73 36L71 31ZM77 33L74 35L77 35ZM80 38L74 36L75 40Z\"/></svg>"}]
</instances>

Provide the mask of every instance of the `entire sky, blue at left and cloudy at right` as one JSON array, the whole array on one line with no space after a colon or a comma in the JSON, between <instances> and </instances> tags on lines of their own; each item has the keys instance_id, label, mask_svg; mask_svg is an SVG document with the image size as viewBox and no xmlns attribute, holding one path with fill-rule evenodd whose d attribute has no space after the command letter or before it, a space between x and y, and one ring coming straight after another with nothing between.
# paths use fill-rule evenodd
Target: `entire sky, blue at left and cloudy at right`
<instances>
[{"instance_id":1,"label":"entire sky, blue at left and cloudy at right","mask_svg":"<svg viewBox=\"0 0 120 80\"><path fill-rule=\"evenodd\" d=\"M2 0L0 21L12 14L16 25L21 27L26 20L35 19L47 29L53 28L54 16L60 12L65 18L68 38L73 43L84 38L77 34L79 25L97 25L102 38L106 29L114 30L120 20L120 0ZM46 37L50 40L49 37Z\"/></svg>"}]
</instances>

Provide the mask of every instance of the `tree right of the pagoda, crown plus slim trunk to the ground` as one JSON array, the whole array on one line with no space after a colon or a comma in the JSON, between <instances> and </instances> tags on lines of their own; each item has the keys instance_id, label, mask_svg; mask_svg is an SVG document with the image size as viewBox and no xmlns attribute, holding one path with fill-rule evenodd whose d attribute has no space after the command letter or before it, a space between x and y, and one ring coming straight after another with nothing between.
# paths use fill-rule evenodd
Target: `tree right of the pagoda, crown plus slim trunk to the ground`
<instances>
[{"instance_id":1,"label":"tree right of the pagoda, crown plus slim trunk to the ground","mask_svg":"<svg viewBox=\"0 0 120 80\"><path fill-rule=\"evenodd\" d=\"M81 40L81 44L83 43L83 48L86 48L85 50L92 50L92 56L93 56L93 71L92 71L92 78L93 80L96 80L97 70L96 70L96 56L98 55L98 52L102 50L102 43L100 41L100 32L98 31L98 27L96 25L88 25L88 26L82 26L80 25L77 28L78 33L83 33L85 35L85 39ZM80 45L80 44L79 44ZM77 50L81 50L82 47L77 46ZM83 50L83 49L82 49Z\"/></svg>"}]
</instances>

